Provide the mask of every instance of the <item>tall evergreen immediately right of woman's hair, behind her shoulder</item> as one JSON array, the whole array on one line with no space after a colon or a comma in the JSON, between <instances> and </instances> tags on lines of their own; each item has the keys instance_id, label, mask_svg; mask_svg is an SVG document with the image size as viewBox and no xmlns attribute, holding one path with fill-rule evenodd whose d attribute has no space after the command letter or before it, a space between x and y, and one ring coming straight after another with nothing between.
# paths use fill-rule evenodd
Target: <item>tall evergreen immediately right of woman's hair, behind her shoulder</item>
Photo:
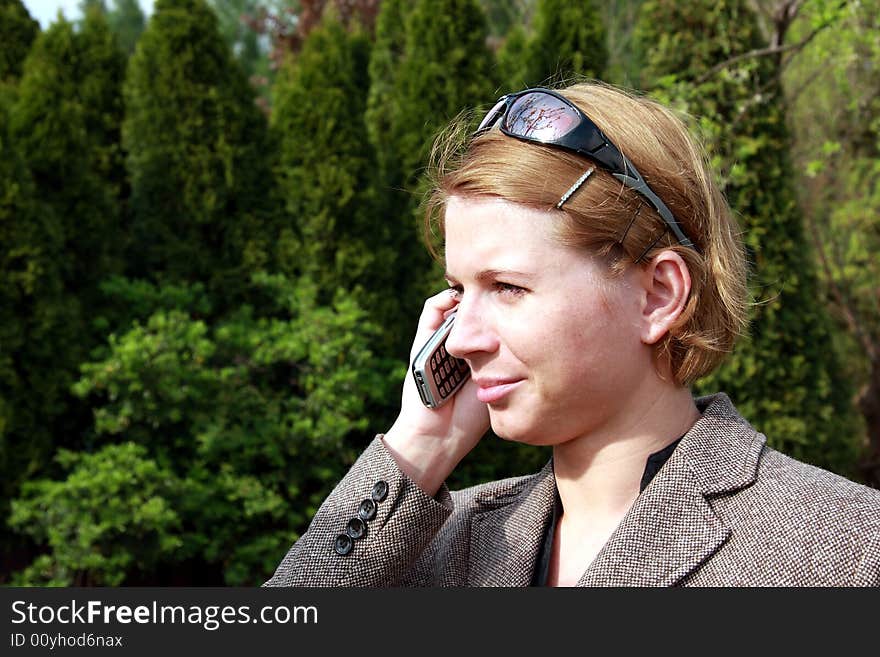
<instances>
[{"instance_id":1,"label":"tall evergreen immediately right of woman's hair, behind her shoulder","mask_svg":"<svg viewBox=\"0 0 880 657\"><path fill-rule=\"evenodd\" d=\"M858 447L850 390L817 303L815 264L792 184L779 62L753 57L711 72L766 46L745 0L646 2L638 33L647 74L701 117L754 267L750 335L700 388L728 392L772 445L848 472Z\"/></svg>"}]
</instances>

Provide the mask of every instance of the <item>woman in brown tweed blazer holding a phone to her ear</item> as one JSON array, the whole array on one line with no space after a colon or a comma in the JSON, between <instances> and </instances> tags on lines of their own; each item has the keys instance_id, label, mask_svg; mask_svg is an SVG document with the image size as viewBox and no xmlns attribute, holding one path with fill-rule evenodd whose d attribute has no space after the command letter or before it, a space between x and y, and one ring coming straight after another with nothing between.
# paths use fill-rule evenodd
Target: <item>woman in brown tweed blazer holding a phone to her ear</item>
<instances>
[{"instance_id":1,"label":"woman in brown tweed blazer holding a phone to her ear","mask_svg":"<svg viewBox=\"0 0 880 657\"><path fill-rule=\"evenodd\" d=\"M450 289L413 353L455 309L446 348L471 379L433 410L406 381L268 584L880 583L878 491L690 394L744 325L745 264L671 112L602 85L526 90L437 152ZM450 493L490 425L551 462Z\"/></svg>"}]
</instances>

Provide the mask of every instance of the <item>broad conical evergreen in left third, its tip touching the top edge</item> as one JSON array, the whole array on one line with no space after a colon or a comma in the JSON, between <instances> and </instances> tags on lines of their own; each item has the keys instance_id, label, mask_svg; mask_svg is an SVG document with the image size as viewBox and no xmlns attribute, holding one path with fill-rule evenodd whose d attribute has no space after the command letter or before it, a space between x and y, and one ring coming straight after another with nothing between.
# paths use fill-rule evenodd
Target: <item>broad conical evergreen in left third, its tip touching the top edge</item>
<instances>
[{"instance_id":1,"label":"broad conical evergreen in left third, its tip touching the top edge","mask_svg":"<svg viewBox=\"0 0 880 657\"><path fill-rule=\"evenodd\" d=\"M236 303L275 240L266 123L203 0L159 0L130 59L129 274L205 281Z\"/></svg>"}]
</instances>

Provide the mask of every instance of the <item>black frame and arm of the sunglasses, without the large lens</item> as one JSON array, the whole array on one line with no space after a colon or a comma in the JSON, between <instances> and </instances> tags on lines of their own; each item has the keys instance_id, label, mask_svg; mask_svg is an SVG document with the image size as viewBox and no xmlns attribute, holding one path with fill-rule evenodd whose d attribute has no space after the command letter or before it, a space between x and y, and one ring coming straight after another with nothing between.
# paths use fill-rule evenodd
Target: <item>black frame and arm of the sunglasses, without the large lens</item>
<instances>
[{"instance_id":1,"label":"black frame and arm of the sunglasses, without the large lens","mask_svg":"<svg viewBox=\"0 0 880 657\"><path fill-rule=\"evenodd\" d=\"M541 139L539 137L518 134L511 131L505 125L505 121L510 114L510 108L513 107L515 101L528 94L543 94L559 100L577 115L577 125L557 139ZM504 103L503 110L501 109L502 103ZM672 231L672 234L675 236L675 239L678 240L679 244L689 247L699 253L696 245L687 235L685 235L681 224L678 223L675 216L672 214L672 211L660 199L660 197L654 193L654 190L650 188L648 183L645 182L645 179L639 173L638 169L635 168L633 163L630 162L626 156L620 152L620 149L618 149L617 146L605 136L605 133L599 129L599 126L593 123L590 117L584 114L577 105L572 103L565 96L552 89L545 89L544 87L533 87L514 94L502 96L496 101L495 105L492 106L492 109L486 113L486 116L480 122L480 127L474 135L476 136L491 130L496 125L498 125L501 132L508 137L513 137L520 141L543 144L545 146L555 146L593 160L624 185L641 194L651 207L657 211L657 214L663 219L666 227Z\"/></svg>"}]
</instances>

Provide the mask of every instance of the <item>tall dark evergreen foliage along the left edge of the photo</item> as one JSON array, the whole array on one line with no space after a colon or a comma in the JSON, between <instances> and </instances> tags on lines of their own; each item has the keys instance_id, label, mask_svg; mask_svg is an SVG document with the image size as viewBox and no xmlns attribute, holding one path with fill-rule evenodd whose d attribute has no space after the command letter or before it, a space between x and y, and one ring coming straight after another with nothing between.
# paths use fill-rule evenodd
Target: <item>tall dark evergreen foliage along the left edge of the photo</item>
<instances>
[{"instance_id":1,"label":"tall dark evergreen foliage along the left edge of the photo","mask_svg":"<svg viewBox=\"0 0 880 657\"><path fill-rule=\"evenodd\" d=\"M34 43L3 121L4 519L19 484L88 427L68 388L99 340L99 281L117 267L122 70L99 14L79 33L59 19Z\"/></svg>"}]
</instances>

